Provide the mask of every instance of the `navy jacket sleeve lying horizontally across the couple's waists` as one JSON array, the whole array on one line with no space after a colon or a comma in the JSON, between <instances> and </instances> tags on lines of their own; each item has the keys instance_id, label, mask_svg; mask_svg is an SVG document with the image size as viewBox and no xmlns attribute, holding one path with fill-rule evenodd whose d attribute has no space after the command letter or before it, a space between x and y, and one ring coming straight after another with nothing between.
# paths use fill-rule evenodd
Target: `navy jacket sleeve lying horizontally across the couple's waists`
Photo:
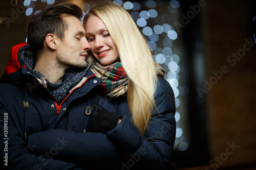
<instances>
[{"instance_id":1,"label":"navy jacket sleeve lying horizontally across the couple's waists","mask_svg":"<svg viewBox=\"0 0 256 170\"><path fill-rule=\"evenodd\" d=\"M57 159L86 165L95 166L95 162L112 165L120 161L118 149L103 133L49 129L29 135L28 147L36 154L57 148Z\"/></svg>"}]
</instances>

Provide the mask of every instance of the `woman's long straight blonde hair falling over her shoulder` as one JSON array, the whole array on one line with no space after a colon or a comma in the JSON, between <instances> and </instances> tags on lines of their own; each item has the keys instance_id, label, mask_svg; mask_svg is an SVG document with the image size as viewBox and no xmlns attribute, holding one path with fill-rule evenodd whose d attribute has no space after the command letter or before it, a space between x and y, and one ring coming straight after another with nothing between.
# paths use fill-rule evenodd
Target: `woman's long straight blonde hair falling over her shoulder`
<instances>
[{"instance_id":1,"label":"woman's long straight blonde hair falling over her shoulder","mask_svg":"<svg viewBox=\"0 0 256 170\"><path fill-rule=\"evenodd\" d=\"M152 53L133 18L122 7L102 3L92 7L84 17L84 28L90 15L98 16L115 42L129 83L127 100L135 126L144 134L155 106L157 76Z\"/></svg>"}]
</instances>

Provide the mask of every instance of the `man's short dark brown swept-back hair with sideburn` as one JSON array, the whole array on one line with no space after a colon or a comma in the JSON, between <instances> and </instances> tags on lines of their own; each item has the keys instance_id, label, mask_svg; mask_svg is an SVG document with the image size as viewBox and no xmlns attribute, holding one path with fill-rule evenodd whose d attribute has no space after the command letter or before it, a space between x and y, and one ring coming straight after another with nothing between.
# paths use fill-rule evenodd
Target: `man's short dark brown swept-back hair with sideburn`
<instances>
[{"instance_id":1,"label":"man's short dark brown swept-back hair with sideburn","mask_svg":"<svg viewBox=\"0 0 256 170\"><path fill-rule=\"evenodd\" d=\"M62 19L62 15L65 14L75 16L79 20L83 16L81 8L77 5L62 3L42 10L29 20L28 43L32 46L36 56L44 47L47 34L52 33L60 39L64 38L64 33L68 29L67 23Z\"/></svg>"}]
</instances>

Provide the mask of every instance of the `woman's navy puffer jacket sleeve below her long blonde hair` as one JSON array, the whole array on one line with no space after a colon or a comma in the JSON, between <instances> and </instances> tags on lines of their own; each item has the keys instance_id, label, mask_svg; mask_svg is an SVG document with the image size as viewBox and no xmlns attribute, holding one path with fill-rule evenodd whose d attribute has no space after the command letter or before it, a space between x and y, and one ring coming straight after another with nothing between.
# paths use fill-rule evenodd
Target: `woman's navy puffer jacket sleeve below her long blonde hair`
<instances>
[{"instance_id":1,"label":"woman's navy puffer jacket sleeve below her long blonde hair","mask_svg":"<svg viewBox=\"0 0 256 170\"><path fill-rule=\"evenodd\" d=\"M145 135L127 117L113 130L108 132L112 140L126 158L123 167L133 165L138 169L172 169L172 153L176 136L175 100L172 87L165 80L160 80L155 104L158 112L152 118ZM131 164L133 160L133 164Z\"/></svg>"}]
</instances>

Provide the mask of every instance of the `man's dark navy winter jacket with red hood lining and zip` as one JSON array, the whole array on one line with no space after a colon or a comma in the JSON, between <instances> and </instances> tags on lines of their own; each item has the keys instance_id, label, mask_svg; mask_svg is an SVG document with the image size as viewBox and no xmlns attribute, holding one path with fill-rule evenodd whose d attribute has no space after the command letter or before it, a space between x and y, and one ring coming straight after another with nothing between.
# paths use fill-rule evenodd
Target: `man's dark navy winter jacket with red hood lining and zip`
<instances>
[{"instance_id":1,"label":"man's dark navy winter jacket with red hood lining and zip","mask_svg":"<svg viewBox=\"0 0 256 170\"><path fill-rule=\"evenodd\" d=\"M89 112L93 113L93 110L90 110L92 102L100 99L99 93L94 88L101 81L89 70L67 98L57 105L51 92L29 74L26 66L20 61L20 52L28 47L27 43L12 47L6 73L1 78L1 165L4 162L6 163L4 169L13 170L87 169L86 166L82 168L81 164L67 159L65 161L55 159L56 154L62 148L72 147L74 152L79 150L75 145L71 146L70 139L64 135L55 139L47 136L46 142L48 140L56 140L56 142L53 148L40 155L27 153L25 147L30 134L48 129L67 129L67 127L72 128L69 126L72 125L76 127L72 130L83 133L90 116ZM117 148L107 138L107 135L83 133L83 137L85 139L83 143L91 145L86 153L92 159L101 161L104 157L102 162L109 160L110 163L120 159ZM100 152L96 152L99 150ZM84 160L83 163L90 165L90 160Z\"/></svg>"}]
</instances>

